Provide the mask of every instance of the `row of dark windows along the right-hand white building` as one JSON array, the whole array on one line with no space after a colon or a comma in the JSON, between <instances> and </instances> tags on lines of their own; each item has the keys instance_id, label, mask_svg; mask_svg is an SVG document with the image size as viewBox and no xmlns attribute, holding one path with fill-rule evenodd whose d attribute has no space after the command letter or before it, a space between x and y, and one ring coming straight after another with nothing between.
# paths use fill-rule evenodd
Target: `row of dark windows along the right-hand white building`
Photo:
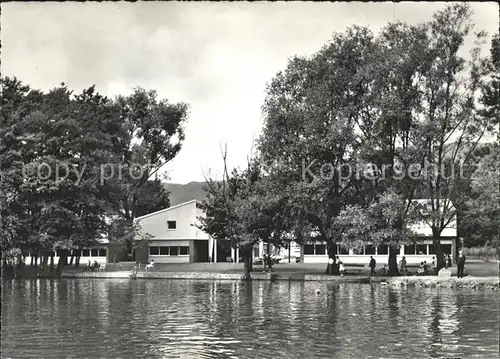
<instances>
[{"instance_id":1,"label":"row of dark windows along the right-hand white building","mask_svg":"<svg viewBox=\"0 0 500 359\"><path fill-rule=\"evenodd\" d=\"M446 254L451 254L451 244L441 244L441 251ZM326 255L326 245L324 244L305 244L304 245L305 255ZM348 255L349 250L337 244L337 254ZM375 251L375 246L368 245L364 246L359 250L354 250L355 255L374 255L374 254L389 254L389 246L384 244L377 247ZM401 254L401 248L396 249L396 254ZM432 244L416 244L405 246L404 254L421 254L429 255L435 254L434 246Z\"/></svg>"}]
</instances>

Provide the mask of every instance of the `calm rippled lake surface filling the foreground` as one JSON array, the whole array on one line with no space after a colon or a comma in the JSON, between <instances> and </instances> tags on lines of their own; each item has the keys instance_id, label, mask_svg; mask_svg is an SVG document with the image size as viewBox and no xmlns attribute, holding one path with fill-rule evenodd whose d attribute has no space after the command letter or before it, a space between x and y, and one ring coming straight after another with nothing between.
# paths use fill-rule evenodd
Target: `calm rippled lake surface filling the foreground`
<instances>
[{"instance_id":1,"label":"calm rippled lake surface filling the foreground","mask_svg":"<svg viewBox=\"0 0 500 359\"><path fill-rule=\"evenodd\" d=\"M498 291L185 280L2 284L2 358L498 358L499 353Z\"/></svg>"}]
</instances>

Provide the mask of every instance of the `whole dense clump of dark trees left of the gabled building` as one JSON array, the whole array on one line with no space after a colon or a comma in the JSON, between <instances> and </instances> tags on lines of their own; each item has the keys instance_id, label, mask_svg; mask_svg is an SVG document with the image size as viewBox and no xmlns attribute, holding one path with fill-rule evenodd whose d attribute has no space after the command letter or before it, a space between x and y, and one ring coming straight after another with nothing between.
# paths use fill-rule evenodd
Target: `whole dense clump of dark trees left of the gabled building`
<instances>
[{"instance_id":1,"label":"whole dense clump of dark trees left of the gabled building","mask_svg":"<svg viewBox=\"0 0 500 359\"><path fill-rule=\"evenodd\" d=\"M108 235L109 216L132 223L168 205L160 181L148 179L178 152L185 105L140 89L110 100L94 87L74 95L64 84L47 93L15 78L2 86L3 249L31 251L35 264L58 250L61 269L71 250Z\"/></svg>"}]
</instances>

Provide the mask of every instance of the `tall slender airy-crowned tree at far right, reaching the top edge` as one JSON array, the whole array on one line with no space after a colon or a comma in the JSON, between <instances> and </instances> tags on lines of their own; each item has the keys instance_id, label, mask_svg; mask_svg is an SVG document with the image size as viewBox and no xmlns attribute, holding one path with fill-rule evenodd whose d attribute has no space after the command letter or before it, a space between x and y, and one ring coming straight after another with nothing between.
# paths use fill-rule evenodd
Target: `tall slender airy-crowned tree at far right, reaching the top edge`
<instances>
[{"instance_id":1,"label":"tall slender airy-crowned tree at far right, reaching the top edge","mask_svg":"<svg viewBox=\"0 0 500 359\"><path fill-rule=\"evenodd\" d=\"M478 101L491 71L488 61L480 57L479 47L471 51L470 61L458 55L473 29L470 7L446 7L434 15L427 29L429 42L419 57L426 64L418 80L422 96L414 117L420 139L417 146L427 165L424 184L430 214L422 218L432 228L439 270L444 265L441 233L456 218L463 200L458 193L464 176L460 169L478 143L496 131L498 117L485 116ZM484 36L476 34L478 45Z\"/></svg>"}]
</instances>

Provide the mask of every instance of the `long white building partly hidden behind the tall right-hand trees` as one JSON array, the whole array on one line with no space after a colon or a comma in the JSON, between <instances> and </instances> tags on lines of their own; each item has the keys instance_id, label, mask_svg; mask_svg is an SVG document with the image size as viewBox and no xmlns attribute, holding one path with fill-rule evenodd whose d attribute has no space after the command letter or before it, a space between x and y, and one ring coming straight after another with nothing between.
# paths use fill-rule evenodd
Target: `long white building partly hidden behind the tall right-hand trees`
<instances>
[{"instance_id":1,"label":"long white building partly hidden behind the tall right-hand trees","mask_svg":"<svg viewBox=\"0 0 500 359\"><path fill-rule=\"evenodd\" d=\"M414 202L420 204L429 203L429 200L419 199ZM453 210L453 206L450 210ZM404 256L408 264L420 264L426 261L432 263L434 254L434 246L432 242L432 229L424 221L412 225L413 232L418 236L417 243L413 245L402 245L399 248L397 261ZM456 260L457 252L457 219L454 215L448 225L441 233L441 250L445 254L450 254L453 262ZM337 244L337 254L339 259L345 264L367 264L370 256L373 256L377 263L386 263L389 256L389 248L387 245L373 246L367 244L359 251L352 249L347 250ZM301 262L303 263L328 263L328 253L325 243L310 242L302 245Z\"/></svg>"}]
</instances>

